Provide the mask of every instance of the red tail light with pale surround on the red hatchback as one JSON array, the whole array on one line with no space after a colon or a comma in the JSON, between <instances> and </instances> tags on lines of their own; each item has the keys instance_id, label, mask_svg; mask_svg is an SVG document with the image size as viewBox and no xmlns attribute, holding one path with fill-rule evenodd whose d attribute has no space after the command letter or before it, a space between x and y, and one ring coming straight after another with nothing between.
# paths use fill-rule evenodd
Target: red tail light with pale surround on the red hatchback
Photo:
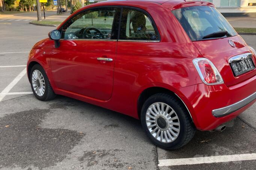
<instances>
[{"instance_id":1,"label":"red tail light with pale surround on the red hatchback","mask_svg":"<svg viewBox=\"0 0 256 170\"><path fill-rule=\"evenodd\" d=\"M208 85L224 83L220 72L215 67L215 65L212 64L212 62L208 59L196 58L193 59L193 64L195 65L196 70L203 83Z\"/></svg>"}]
</instances>

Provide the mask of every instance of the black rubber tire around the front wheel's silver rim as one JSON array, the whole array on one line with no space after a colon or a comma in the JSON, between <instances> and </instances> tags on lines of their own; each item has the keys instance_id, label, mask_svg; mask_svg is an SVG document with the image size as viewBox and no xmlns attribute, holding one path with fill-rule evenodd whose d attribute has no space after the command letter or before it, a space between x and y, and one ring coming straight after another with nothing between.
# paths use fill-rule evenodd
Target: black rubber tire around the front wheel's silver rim
<instances>
[{"instance_id":1,"label":"black rubber tire around the front wheel's silver rim","mask_svg":"<svg viewBox=\"0 0 256 170\"><path fill-rule=\"evenodd\" d=\"M35 70L39 70L44 77L45 92L42 96L39 96L36 94L36 92L33 88L33 85L32 85L32 74L33 74L33 71L35 71ZM40 101L48 101L48 100L52 100L56 97L55 93L53 92L53 89L51 88L51 84L48 80L48 77L47 77L45 71L44 71L44 68L42 68L41 65L36 64L32 67L32 69L30 71L29 79L30 79L30 85L31 85L32 91L37 99L39 99Z\"/></svg>"}]
</instances>

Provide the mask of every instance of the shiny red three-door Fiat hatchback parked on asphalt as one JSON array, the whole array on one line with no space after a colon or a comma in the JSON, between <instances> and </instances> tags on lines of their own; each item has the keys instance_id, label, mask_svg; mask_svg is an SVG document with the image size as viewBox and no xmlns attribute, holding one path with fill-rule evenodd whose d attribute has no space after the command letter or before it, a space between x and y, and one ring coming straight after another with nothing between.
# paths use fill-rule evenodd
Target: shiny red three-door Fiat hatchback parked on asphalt
<instances>
[{"instance_id":1,"label":"shiny red three-door Fiat hatchback parked on asphalt","mask_svg":"<svg viewBox=\"0 0 256 170\"><path fill-rule=\"evenodd\" d=\"M39 100L64 95L140 119L164 149L222 131L256 101L256 52L204 1L104 1L35 44Z\"/></svg>"}]
</instances>

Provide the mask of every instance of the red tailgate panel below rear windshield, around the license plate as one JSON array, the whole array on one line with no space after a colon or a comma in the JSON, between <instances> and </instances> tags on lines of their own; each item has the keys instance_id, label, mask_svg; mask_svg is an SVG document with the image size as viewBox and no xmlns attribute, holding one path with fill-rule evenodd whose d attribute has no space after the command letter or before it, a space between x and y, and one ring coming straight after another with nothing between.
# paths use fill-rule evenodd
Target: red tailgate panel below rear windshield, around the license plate
<instances>
[{"instance_id":1,"label":"red tailgate panel below rear windshield, around the license plate","mask_svg":"<svg viewBox=\"0 0 256 170\"><path fill-rule=\"evenodd\" d=\"M235 43L235 47L230 46L229 40L232 40ZM242 53L251 52L250 48L239 35L214 40L194 41L193 43L200 51L202 56L208 58L215 65L215 67L217 67L224 83L227 86L240 83L256 75L256 69L239 75L238 77L233 75L232 69L228 62L229 58ZM253 61L256 63L255 56L253 57Z\"/></svg>"}]
</instances>

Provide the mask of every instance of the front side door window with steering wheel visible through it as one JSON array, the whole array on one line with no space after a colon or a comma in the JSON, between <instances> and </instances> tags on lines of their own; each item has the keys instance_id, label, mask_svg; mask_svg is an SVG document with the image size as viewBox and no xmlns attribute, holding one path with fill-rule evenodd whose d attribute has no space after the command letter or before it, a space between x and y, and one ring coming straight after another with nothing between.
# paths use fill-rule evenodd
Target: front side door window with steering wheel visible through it
<instances>
[{"instance_id":1,"label":"front side door window with steering wheel visible through it","mask_svg":"<svg viewBox=\"0 0 256 170\"><path fill-rule=\"evenodd\" d=\"M116 8L100 8L79 13L62 27L65 39L111 39Z\"/></svg>"}]
</instances>

